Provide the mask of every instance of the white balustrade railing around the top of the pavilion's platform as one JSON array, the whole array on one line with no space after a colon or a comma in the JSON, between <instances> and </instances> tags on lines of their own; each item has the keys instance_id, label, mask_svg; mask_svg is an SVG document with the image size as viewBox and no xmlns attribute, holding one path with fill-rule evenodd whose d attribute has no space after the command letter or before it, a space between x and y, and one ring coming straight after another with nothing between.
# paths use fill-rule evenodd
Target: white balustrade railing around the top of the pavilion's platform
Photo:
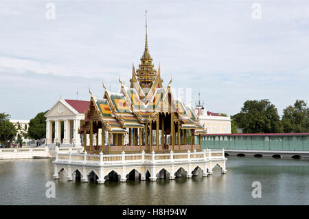
<instances>
[{"instance_id":1,"label":"white balustrade railing around the top of the pavilion's platform","mask_svg":"<svg viewBox=\"0 0 309 219\"><path fill-rule=\"evenodd\" d=\"M166 163L166 162L181 162L181 161L206 161L225 158L224 150L203 150L203 152L187 152L156 154L152 151L151 154L146 154L144 151L138 154L87 154L83 153L56 153L55 161L65 163L92 163L98 165L110 165L120 163Z\"/></svg>"}]
</instances>

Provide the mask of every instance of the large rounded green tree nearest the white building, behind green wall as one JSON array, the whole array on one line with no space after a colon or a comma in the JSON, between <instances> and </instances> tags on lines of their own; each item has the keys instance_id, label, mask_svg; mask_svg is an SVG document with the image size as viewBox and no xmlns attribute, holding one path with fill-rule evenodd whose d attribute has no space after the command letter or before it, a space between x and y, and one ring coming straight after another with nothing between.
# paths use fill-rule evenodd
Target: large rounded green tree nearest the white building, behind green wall
<instances>
[{"instance_id":1,"label":"large rounded green tree nearest the white building, behind green wall","mask_svg":"<svg viewBox=\"0 0 309 219\"><path fill-rule=\"evenodd\" d=\"M233 116L244 133L283 132L282 122L275 105L269 100L247 100L240 113Z\"/></svg>"}]
</instances>

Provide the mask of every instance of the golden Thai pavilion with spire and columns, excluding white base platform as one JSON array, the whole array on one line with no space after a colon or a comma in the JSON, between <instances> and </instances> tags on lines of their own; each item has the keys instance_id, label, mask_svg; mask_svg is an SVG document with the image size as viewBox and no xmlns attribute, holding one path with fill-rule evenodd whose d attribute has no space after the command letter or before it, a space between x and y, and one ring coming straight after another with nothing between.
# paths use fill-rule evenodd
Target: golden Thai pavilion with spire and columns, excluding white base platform
<instances>
[{"instance_id":1,"label":"golden Thai pavilion with spire and columns, excluding white base platform","mask_svg":"<svg viewBox=\"0 0 309 219\"><path fill-rule=\"evenodd\" d=\"M92 154L201 150L204 127L198 123L192 105L174 97L170 89L172 79L163 87L160 65L155 69L149 53L147 23L140 60L136 71L133 65L130 87L119 79L121 89L113 93L103 84L103 97L93 96L89 89L91 100L78 131L84 135L83 139L87 139L87 134L90 136L90 142L83 142L84 149ZM128 135L126 145L125 135ZM199 142L194 141L194 135L199 136Z\"/></svg>"}]
</instances>

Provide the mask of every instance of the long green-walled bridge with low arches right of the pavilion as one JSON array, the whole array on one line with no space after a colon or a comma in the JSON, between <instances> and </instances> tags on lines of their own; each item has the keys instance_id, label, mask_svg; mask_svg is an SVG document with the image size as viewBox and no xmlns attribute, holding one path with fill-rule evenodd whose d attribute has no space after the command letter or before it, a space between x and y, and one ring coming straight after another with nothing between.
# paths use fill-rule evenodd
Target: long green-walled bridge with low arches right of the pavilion
<instances>
[{"instance_id":1,"label":"long green-walled bridge with low arches right of the pavilion","mask_svg":"<svg viewBox=\"0 0 309 219\"><path fill-rule=\"evenodd\" d=\"M224 148L226 155L309 159L309 133L207 134L201 148Z\"/></svg>"}]
</instances>

